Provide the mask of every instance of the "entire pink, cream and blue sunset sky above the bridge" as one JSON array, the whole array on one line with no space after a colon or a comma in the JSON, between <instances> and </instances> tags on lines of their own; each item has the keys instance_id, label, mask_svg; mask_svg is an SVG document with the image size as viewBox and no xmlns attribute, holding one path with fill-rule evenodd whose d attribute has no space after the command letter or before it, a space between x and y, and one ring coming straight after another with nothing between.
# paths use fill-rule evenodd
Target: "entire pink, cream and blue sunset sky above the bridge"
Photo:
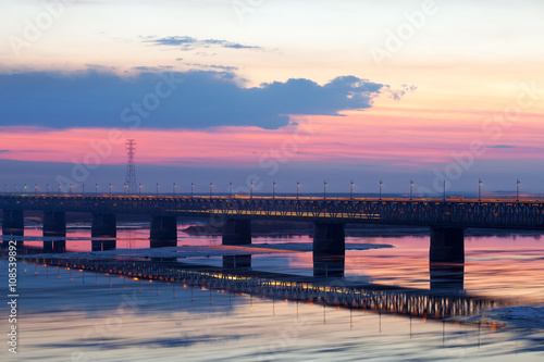
<instances>
[{"instance_id":1,"label":"entire pink, cream and blue sunset sky above the bridge","mask_svg":"<svg viewBox=\"0 0 544 362\"><path fill-rule=\"evenodd\" d=\"M0 191L544 190L542 1L0 9Z\"/></svg>"}]
</instances>

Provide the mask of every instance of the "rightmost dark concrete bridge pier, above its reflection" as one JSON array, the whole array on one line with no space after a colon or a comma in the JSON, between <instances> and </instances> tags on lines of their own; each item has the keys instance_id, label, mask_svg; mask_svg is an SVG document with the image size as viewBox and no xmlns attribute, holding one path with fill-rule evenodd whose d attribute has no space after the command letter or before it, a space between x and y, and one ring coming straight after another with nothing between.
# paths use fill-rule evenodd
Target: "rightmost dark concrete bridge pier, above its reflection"
<instances>
[{"instance_id":1,"label":"rightmost dark concrete bridge pier, above its reflection","mask_svg":"<svg viewBox=\"0 0 544 362\"><path fill-rule=\"evenodd\" d=\"M463 263L465 230L459 227L431 227L429 261Z\"/></svg>"}]
</instances>

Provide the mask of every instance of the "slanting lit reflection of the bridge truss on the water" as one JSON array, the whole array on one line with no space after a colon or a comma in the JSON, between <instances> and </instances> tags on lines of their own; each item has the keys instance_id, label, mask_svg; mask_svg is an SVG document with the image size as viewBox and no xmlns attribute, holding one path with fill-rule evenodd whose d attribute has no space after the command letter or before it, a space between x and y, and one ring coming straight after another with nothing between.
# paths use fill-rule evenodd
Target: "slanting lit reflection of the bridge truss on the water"
<instances>
[{"instance_id":1,"label":"slanting lit reflection of the bridge truss on the water","mask_svg":"<svg viewBox=\"0 0 544 362\"><path fill-rule=\"evenodd\" d=\"M260 295L350 309L416 317L449 317L496 308L498 301L459 294L433 294L420 289L384 290L345 285L342 279L324 285L312 278L285 274L212 269L172 262L26 258L37 264L121 275L134 279L180 283L227 292ZM321 280L323 282L323 280Z\"/></svg>"}]
</instances>

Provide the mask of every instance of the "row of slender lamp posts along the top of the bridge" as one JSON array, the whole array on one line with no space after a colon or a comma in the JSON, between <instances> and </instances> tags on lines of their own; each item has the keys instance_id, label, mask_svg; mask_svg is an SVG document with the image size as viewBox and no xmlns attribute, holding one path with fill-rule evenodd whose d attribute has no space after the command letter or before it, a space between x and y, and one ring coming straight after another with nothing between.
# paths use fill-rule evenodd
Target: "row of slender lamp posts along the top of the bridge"
<instances>
[{"instance_id":1,"label":"row of slender lamp posts along the top of the bridge","mask_svg":"<svg viewBox=\"0 0 544 362\"><path fill-rule=\"evenodd\" d=\"M478 179L478 201L482 201L482 179ZM519 179L516 180L516 201L519 201L519 185L521 184L521 182ZM323 199L326 199L326 180L323 182ZM349 183L349 195L350 195L350 198L353 199L354 198L354 180L351 180ZM382 199L382 185L383 185L383 182L380 179L380 188L379 188L379 192L380 192L380 200ZM412 199L413 197L413 180L410 179L410 200ZM444 200L446 199L446 180L444 179ZM275 198L275 186L276 186L276 183L275 182L272 182L272 198ZM194 187L195 187L195 184L194 183L190 183L190 197L193 197L194 195ZM300 183L297 180L297 199L298 199L298 196L299 196L299 187L300 187ZM49 195L49 184L47 184L46 186L47 188L47 194ZM212 196L212 188L213 188L213 183L210 182L210 198ZM13 185L13 194L16 192L16 189L17 189L17 185L14 184ZM176 184L173 183L172 185L172 195L175 196L175 189L176 189ZM58 190L59 190L59 195L61 194L61 185L59 184L58 185ZM71 184L70 185L70 195L72 195L72 190L73 190L73 185ZM109 184L109 190L110 190L110 196L112 195L112 185ZM228 183L228 197L232 197L232 190L233 190L233 183ZM8 184L4 184L4 194L8 194ZM24 185L24 192L23 194L26 194L26 184ZM34 185L34 195L37 195L38 194L38 185ZM85 184L83 184L83 188L82 188L82 194L85 195ZM95 194L98 196L98 184L95 185ZM126 196L126 184L123 185L123 195ZM138 196L141 196L141 184L138 184ZM157 197L159 196L159 183L157 183ZM254 183L251 182L251 185L250 185L250 197L252 198L254 197Z\"/></svg>"}]
</instances>

